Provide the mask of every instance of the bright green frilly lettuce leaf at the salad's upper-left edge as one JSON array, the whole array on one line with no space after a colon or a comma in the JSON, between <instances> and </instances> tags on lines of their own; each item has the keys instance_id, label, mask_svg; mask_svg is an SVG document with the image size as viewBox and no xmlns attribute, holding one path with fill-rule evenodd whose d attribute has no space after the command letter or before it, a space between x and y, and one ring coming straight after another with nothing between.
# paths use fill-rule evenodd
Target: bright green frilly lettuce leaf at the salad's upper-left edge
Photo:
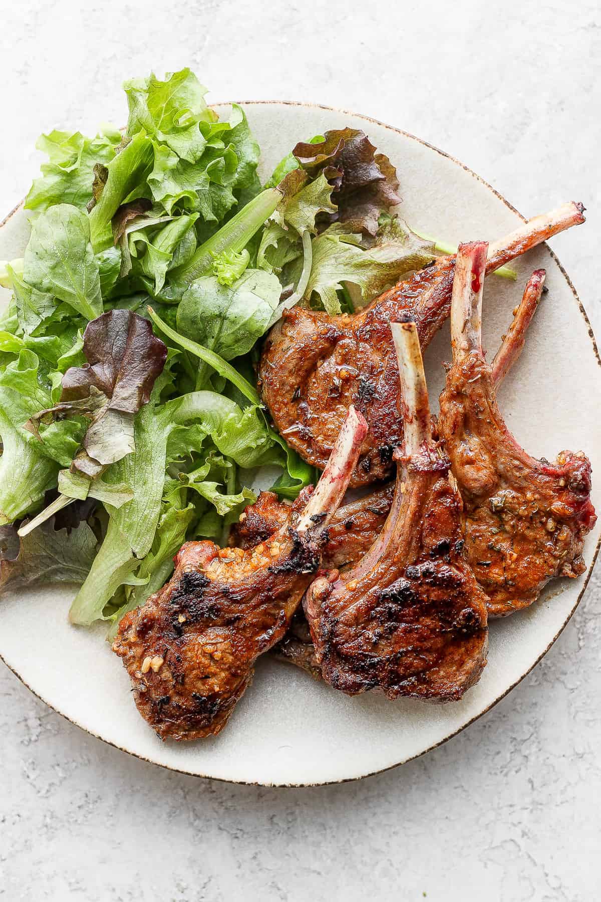
<instances>
[{"instance_id":1,"label":"bright green frilly lettuce leaf at the salad's upper-left edge","mask_svg":"<svg viewBox=\"0 0 601 902\"><path fill-rule=\"evenodd\" d=\"M33 180L25 208L43 211L55 204L72 204L85 210L92 199L94 167L114 159L121 138L117 129L107 129L96 138L57 130L42 134L35 146L48 154L49 161L41 164L41 178Z\"/></svg>"}]
</instances>

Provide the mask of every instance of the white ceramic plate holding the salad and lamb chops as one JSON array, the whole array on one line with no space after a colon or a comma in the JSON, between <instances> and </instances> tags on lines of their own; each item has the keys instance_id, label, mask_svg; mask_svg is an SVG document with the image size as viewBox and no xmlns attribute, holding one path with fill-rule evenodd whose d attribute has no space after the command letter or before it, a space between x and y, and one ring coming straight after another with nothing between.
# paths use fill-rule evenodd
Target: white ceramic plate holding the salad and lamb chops
<instances>
[{"instance_id":1,"label":"white ceramic plate holding the salad and lamb chops","mask_svg":"<svg viewBox=\"0 0 601 902\"><path fill-rule=\"evenodd\" d=\"M396 164L403 216L415 229L458 243L494 239L520 216L458 161L409 134L351 113L283 103L246 105L267 175L297 141L351 125L369 134ZM548 208L570 199L569 179ZM544 212L528 210L529 216ZM579 226L587 228L587 226ZM21 256L27 240L22 209L0 228L0 259ZM556 239L560 244L561 238ZM518 440L535 456L563 448L587 451L601 472L598 398L601 370L586 314L560 263L541 247L516 263L517 283L487 280L484 336L491 353L511 319L524 281L547 270L549 293L534 318L524 355L500 392L500 405ZM449 359L448 330L426 354L436 407L441 361ZM578 366L575 362L578 361ZM593 500L601 507L596 483ZM594 563L601 520L587 537L587 575L556 581L533 607L490 627L488 665L456 704L387 702L378 695L347 698L274 660L258 663L254 682L223 733L177 745L163 743L141 720L130 680L105 643L105 628L68 625L71 595L63 588L12 596L0 605L0 655L23 683L82 729L142 759L204 777L265 785L323 784L365 777L433 749L502 698L542 658L574 612Z\"/></svg>"}]
</instances>

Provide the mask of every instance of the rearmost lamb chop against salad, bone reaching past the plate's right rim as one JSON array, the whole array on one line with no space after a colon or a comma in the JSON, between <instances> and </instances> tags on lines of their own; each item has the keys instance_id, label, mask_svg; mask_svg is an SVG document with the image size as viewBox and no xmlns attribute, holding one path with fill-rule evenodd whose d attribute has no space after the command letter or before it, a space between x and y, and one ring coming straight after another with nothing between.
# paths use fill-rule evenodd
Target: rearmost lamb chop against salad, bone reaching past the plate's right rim
<instances>
[{"instance_id":1,"label":"rearmost lamb chop against salad, bone reaching past the plate's right rim","mask_svg":"<svg viewBox=\"0 0 601 902\"><path fill-rule=\"evenodd\" d=\"M583 209L564 204L491 244L487 274L584 222ZM454 269L454 257L440 257L354 316L296 307L273 327L260 360L260 388L278 431L305 461L323 469L352 403L368 420L369 435L351 485L381 482L392 473L403 424L388 326L410 311L425 348L449 316Z\"/></svg>"}]
</instances>

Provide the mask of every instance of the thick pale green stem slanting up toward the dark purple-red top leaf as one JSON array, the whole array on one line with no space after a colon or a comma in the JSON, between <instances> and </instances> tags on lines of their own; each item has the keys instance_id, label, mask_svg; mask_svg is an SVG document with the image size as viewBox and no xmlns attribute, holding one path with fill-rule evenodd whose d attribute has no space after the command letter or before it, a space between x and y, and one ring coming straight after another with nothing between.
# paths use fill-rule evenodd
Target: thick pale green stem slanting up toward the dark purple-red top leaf
<instances>
[{"instance_id":1,"label":"thick pale green stem slanting up toward the dark purple-red top leaf","mask_svg":"<svg viewBox=\"0 0 601 902\"><path fill-rule=\"evenodd\" d=\"M205 244L201 244L189 262L173 270L170 273L171 281L179 286L189 285L191 281L212 272L215 254L223 251L240 253L265 220L269 219L281 199L282 192L277 188L261 191L208 241L205 241Z\"/></svg>"}]
</instances>

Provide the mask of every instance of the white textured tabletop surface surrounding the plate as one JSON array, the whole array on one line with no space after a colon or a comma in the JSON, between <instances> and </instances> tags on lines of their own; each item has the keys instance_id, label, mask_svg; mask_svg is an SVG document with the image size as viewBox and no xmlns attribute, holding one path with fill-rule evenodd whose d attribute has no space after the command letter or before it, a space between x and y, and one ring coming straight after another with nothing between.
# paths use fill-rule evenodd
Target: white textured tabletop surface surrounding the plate
<instances>
[{"instance_id":1,"label":"white textured tabletop surface surrounding the plate","mask_svg":"<svg viewBox=\"0 0 601 902\"><path fill-rule=\"evenodd\" d=\"M36 173L38 133L123 124L123 78L190 65L215 101L310 100L400 126L465 161L526 215L583 200L588 225L552 246L601 333L598 2L8 7L3 211ZM600 592L597 576L542 664L468 731L339 787L269 790L165 772L66 723L3 667L0 897L594 902Z\"/></svg>"}]
</instances>

